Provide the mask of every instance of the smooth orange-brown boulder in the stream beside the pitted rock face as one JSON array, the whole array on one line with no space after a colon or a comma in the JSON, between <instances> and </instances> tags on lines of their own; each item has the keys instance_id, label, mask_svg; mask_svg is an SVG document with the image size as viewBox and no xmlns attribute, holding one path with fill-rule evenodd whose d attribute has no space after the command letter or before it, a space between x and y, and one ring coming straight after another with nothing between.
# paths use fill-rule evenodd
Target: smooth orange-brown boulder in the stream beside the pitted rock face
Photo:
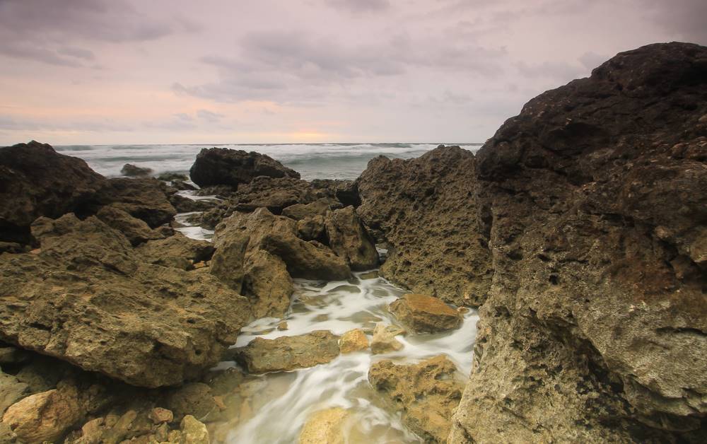
<instances>
[{"instance_id":1,"label":"smooth orange-brown boulder in the stream beside the pitted rock face","mask_svg":"<svg viewBox=\"0 0 707 444\"><path fill-rule=\"evenodd\" d=\"M432 296L409 293L390 304L388 310L416 332L445 332L462 325L457 310Z\"/></svg>"}]
</instances>

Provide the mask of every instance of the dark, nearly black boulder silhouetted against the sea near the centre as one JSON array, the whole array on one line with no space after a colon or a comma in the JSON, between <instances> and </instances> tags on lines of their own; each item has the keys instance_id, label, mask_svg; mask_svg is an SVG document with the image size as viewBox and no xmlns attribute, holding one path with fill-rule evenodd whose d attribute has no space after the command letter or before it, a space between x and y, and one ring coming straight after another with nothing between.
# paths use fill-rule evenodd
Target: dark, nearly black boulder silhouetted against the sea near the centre
<instances>
[{"instance_id":1,"label":"dark, nearly black boulder silhouetted against the sea near the centre","mask_svg":"<svg viewBox=\"0 0 707 444\"><path fill-rule=\"evenodd\" d=\"M229 185L238 187L255 177L294 177L299 173L284 167L281 163L264 154L228 148L203 148L197 154L194 165L189 170L192 182L199 187Z\"/></svg>"}]
</instances>

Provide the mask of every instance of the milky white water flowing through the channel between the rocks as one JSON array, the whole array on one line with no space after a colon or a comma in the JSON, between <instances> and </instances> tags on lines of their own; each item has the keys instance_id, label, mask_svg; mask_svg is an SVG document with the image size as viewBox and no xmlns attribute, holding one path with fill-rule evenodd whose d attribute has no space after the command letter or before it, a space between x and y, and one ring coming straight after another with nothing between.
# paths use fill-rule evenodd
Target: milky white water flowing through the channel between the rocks
<instances>
[{"instance_id":1,"label":"milky white water flowing through the channel between the rocks","mask_svg":"<svg viewBox=\"0 0 707 444\"><path fill-rule=\"evenodd\" d=\"M192 197L192 196L189 196ZM187 222L189 214L177 215L178 228L190 238L210 240L213 231ZM348 281L295 279L290 310L283 319L261 318L241 329L238 342L247 345L256 337L274 339L329 330L341 335L355 328L368 339L378 322L399 325L387 305L407 291L378 276L378 272L354 273ZM279 330L281 321L287 329ZM452 332L397 336L403 349L373 355L370 349L341 354L333 361L289 372L247 375L239 386L240 396L226 401L226 421L210 426L214 442L233 444L297 443L308 417L323 409L341 407L349 411L344 423L347 443L420 443L402 423L401 415L378 395L368 382L372 363L391 359L395 363L417 363L423 358L446 354L457 366L464 382L472 366L477 312L464 315L462 326ZM235 367L224 361L216 369ZM235 405L238 404L238 405Z\"/></svg>"}]
</instances>

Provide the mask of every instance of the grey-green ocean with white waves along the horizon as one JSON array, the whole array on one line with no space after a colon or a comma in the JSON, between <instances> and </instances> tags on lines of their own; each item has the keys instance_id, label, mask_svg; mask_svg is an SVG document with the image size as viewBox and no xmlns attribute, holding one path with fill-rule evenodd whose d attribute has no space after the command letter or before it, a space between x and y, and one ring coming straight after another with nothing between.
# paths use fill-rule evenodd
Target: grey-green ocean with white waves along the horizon
<instances>
[{"instance_id":1,"label":"grey-green ocean with white waves along the horizon","mask_svg":"<svg viewBox=\"0 0 707 444\"><path fill-rule=\"evenodd\" d=\"M481 144L459 145L478 151ZM353 180L376 156L415 158L438 144L192 144L192 145L71 145L55 146L59 153L86 160L90 168L107 177L120 175L126 163L151 168L155 174L187 173L201 148L232 148L257 151L279 160L303 179Z\"/></svg>"}]
</instances>

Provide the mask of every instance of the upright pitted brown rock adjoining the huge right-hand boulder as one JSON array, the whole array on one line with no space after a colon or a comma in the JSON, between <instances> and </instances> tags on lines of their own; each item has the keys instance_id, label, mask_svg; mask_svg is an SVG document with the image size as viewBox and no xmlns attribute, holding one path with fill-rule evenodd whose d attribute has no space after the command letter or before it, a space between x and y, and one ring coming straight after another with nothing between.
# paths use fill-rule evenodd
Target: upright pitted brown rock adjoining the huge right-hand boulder
<instances>
[{"instance_id":1,"label":"upright pitted brown rock adjoining the huge right-hand boulder","mask_svg":"<svg viewBox=\"0 0 707 444\"><path fill-rule=\"evenodd\" d=\"M484 302L491 257L477 217L474 166L474 155L458 146L370 160L358 178L356 211L389 245L382 276L456 305Z\"/></svg>"}]
</instances>

